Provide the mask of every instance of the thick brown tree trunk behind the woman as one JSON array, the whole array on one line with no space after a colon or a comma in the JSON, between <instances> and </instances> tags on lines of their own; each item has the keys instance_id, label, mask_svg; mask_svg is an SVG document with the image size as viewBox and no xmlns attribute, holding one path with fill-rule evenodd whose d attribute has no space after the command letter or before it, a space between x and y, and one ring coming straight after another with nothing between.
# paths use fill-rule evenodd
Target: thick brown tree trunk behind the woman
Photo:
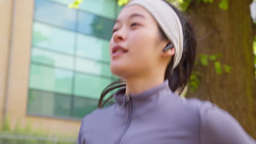
<instances>
[{"instance_id":1,"label":"thick brown tree trunk behind the woman","mask_svg":"<svg viewBox=\"0 0 256 144\"><path fill-rule=\"evenodd\" d=\"M229 1L228 10L212 4L193 2L191 15L198 39L197 54L222 54L221 64L232 67L229 74L217 74L213 62L203 67L199 89L188 97L210 100L231 113L249 135L256 139L256 82L252 43L253 22L249 4L252 0ZM198 57L197 57L198 58Z\"/></svg>"}]
</instances>

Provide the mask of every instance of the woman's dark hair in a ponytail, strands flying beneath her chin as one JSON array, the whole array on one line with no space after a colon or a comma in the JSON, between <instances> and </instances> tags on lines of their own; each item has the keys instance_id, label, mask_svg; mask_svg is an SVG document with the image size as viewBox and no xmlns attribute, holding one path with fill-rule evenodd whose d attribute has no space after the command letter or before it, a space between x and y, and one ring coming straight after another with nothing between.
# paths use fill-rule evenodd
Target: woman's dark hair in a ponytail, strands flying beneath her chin
<instances>
[{"instance_id":1,"label":"woman's dark hair in a ponytail, strands flying beneath her chin","mask_svg":"<svg viewBox=\"0 0 256 144\"><path fill-rule=\"evenodd\" d=\"M163 0L164 1L164 0ZM166 1L165 1L166 2ZM182 29L183 29L183 52L181 61L177 65L176 68L172 70L173 67L173 61L168 63L166 71L165 71L165 80L168 79L169 87L171 91L179 91L179 94L182 93L185 85L190 79L190 75L192 73L194 62L195 62L195 56L196 56L196 37L194 28L191 25L191 22L189 21L188 17L183 14L181 11L179 11L177 8L175 8L170 3L166 2L172 9L176 12L176 14L179 17L179 20L181 20L182 23ZM159 27L159 32L162 39L167 39L164 32L162 32L161 28ZM117 80L110 85L108 85L106 88L103 89L101 93L100 100L98 101L98 107L103 107L106 102L113 97L113 94L110 95L109 98L107 98L105 101L103 101L104 97L112 90L116 88L125 87L125 81L124 80Z\"/></svg>"}]
</instances>

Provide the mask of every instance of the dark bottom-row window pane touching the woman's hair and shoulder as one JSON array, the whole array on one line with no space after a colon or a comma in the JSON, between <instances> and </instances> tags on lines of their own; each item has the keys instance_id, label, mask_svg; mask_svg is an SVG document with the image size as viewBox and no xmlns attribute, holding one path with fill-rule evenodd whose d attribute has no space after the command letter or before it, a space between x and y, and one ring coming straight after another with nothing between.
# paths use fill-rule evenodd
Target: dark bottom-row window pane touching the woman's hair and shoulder
<instances>
[{"instance_id":1,"label":"dark bottom-row window pane touching the woman's hair and shoulder","mask_svg":"<svg viewBox=\"0 0 256 144\"><path fill-rule=\"evenodd\" d=\"M73 116L83 118L88 113L97 109L98 100L83 97L74 97Z\"/></svg>"}]
</instances>

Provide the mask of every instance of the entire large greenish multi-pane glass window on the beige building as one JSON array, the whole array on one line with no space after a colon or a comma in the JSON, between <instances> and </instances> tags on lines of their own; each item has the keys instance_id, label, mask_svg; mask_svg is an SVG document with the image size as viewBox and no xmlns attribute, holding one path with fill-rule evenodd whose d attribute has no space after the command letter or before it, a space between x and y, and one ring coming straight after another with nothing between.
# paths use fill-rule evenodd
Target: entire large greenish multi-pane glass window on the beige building
<instances>
[{"instance_id":1,"label":"entire large greenish multi-pane glass window on the beige building","mask_svg":"<svg viewBox=\"0 0 256 144\"><path fill-rule=\"evenodd\" d=\"M35 0L30 114L83 118L97 108L101 92L115 79L109 40L122 7L115 0L84 0L78 10L69 9L73 2Z\"/></svg>"}]
</instances>

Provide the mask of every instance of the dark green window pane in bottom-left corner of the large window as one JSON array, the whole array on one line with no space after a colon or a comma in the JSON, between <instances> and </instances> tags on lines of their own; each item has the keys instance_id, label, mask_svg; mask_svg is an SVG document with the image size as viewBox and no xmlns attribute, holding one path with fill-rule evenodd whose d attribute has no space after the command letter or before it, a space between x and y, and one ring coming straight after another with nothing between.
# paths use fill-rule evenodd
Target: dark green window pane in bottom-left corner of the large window
<instances>
[{"instance_id":1,"label":"dark green window pane in bottom-left corner of the large window","mask_svg":"<svg viewBox=\"0 0 256 144\"><path fill-rule=\"evenodd\" d=\"M43 116L70 116L71 97L30 89L27 112Z\"/></svg>"}]
</instances>

